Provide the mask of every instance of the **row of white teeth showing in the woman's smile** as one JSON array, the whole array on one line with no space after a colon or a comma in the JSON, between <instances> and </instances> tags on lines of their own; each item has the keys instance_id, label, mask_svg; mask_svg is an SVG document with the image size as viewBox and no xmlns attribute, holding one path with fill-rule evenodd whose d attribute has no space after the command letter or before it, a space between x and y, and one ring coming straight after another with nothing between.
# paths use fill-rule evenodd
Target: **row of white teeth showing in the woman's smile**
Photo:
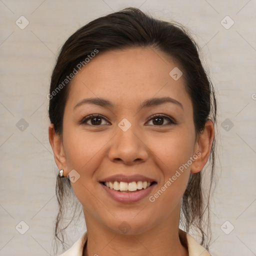
<instances>
[{"instance_id":1,"label":"row of white teeth showing in the woman's smile","mask_svg":"<svg viewBox=\"0 0 256 256\"><path fill-rule=\"evenodd\" d=\"M137 189L147 188L150 186L151 182L147 181L132 181L132 182L123 182L123 181L107 181L104 183L107 187L120 190L120 191L136 191Z\"/></svg>"}]
</instances>

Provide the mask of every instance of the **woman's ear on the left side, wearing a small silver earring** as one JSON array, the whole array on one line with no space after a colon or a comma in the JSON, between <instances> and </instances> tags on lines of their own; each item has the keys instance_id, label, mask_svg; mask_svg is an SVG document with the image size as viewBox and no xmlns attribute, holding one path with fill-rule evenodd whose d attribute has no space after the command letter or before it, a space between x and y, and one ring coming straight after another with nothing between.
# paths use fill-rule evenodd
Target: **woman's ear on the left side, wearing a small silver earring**
<instances>
[{"instance_id":1,"label":"woman's ear on the left side, wearing a small silver earring","mask_svg":"<svg viewBox=\"0 0 256 256\"><path fill-rule=\"evenodd\" d=\"M63 175L67 172L66 157L61 136L55 133L54 125L51 123L48 128L49 142L54 154L55 162L59 169L63 169Z\"/></svg>"}]
</instances>

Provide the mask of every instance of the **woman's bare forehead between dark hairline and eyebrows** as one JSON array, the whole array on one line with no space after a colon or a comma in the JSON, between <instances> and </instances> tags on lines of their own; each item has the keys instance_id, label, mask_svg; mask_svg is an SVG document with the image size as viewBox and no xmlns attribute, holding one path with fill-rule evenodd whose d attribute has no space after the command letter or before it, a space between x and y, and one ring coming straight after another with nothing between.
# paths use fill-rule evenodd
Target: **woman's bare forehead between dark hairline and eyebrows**
<instances>
[{"instance_id":1,"label":"woman's bare forehead between dark hairline and eyebrows","mask_svg":"<svg viewBox=\"0 0 256 256\"><path fill-rule=\"evenodd\" d=\"M171 70L180 69L169 56L155 48L129 48L101 54L99 51L74 76L68 101L74 105L84 97L104 97L124 106L153 96L170 96L191 107L182 75L179 79L172 76Z\"/></svg>"}]
</instances>

